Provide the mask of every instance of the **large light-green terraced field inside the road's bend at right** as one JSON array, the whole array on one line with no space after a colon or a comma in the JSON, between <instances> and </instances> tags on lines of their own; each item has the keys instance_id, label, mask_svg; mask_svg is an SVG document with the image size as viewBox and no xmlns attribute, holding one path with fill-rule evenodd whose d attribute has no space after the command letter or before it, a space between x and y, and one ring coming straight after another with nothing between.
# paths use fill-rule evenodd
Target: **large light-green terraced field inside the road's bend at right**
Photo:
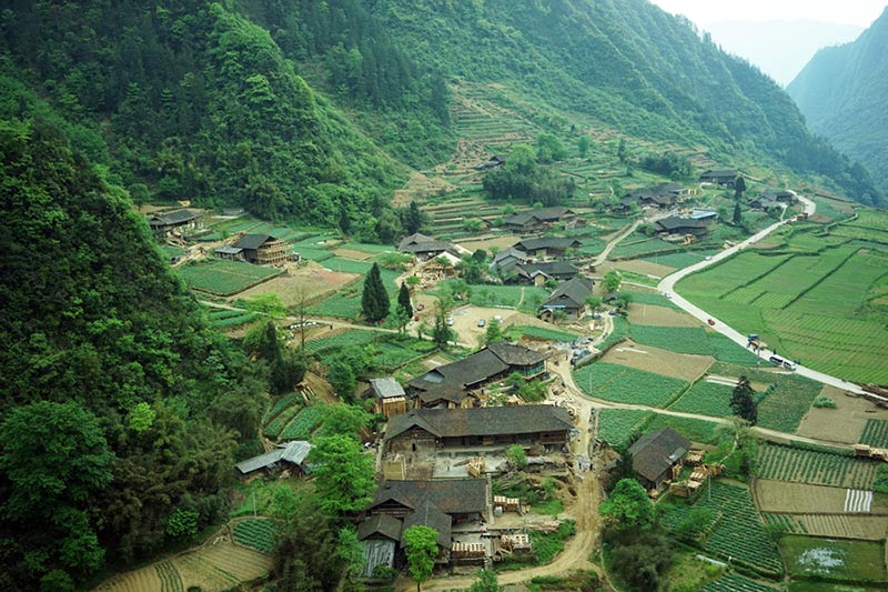
<instances>
[{"instance_id":1,"label":"large light-green terraced field inside the road's bend at right","mask_svg":"<svg viewBox=\"0 0 888 592\"><path fill-rule=\"evenodd\" d=\"M888 309L878 305L888 215L867 211L865 227L855 222L783 231L773 252L744 251L676 290L785 358L857 382L888 382Z\"/></svg>"}]
</instances>

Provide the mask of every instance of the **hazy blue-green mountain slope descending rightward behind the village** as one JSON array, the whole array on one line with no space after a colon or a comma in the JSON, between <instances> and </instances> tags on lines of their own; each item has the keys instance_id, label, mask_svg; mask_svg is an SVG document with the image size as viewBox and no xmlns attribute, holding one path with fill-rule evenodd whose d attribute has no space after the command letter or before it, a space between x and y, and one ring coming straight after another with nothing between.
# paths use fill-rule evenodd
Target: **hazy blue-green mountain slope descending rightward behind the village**
<instances>
[{"instance_id":1,"label":"hazy blue-green mountain slope descending rightward behind the village","mask_svg":"<svg viewBox=\"0 0 888 592\"><path fill-rule=\"evenodd\" d=\"M774 81L646 0L372 7L415 61L442 72L515 84L634 136L708 146L726 161L773 159L831 177L857 198L880 198L865 171L807 131Z\"/></svg>"}]
</instances>

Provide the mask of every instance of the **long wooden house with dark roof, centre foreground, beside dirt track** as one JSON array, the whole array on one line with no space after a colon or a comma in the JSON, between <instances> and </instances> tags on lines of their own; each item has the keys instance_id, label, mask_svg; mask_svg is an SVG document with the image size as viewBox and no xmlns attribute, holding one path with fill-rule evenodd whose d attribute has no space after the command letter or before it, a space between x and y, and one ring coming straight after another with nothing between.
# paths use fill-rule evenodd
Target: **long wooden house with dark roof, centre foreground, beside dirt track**
<instances>
[{"instance_id":1,"label":"long wooden house with dark roof, centre foreground, beside dirt track","mask_svg":"<svg viewBox=\"0 0 888 592\"><path fill-rule=\"evenodd\" d=\"M416 409L393 417L383 442L386 453L512 444L558 451L569 441L572 428L567 411L554 405Z\"/></svg>"}]
</instances>

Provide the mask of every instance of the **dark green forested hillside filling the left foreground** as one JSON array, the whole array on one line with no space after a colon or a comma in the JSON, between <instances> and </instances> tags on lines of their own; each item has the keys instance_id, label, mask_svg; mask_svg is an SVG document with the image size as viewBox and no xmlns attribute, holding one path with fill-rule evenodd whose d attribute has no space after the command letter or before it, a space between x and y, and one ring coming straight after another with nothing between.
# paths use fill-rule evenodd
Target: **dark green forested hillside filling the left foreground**
<instances>
[{"instance_id":1,"label":"dark green forested hillside filling the left foreground","mask_svg":"<svg viewBox=\"0 0 888 592\"><path fill-rule=\"evenodd\" d=\"M0 80L0 589L71 590L224 515L268 387L123 190Z\"/></svg>"}]
</instances>

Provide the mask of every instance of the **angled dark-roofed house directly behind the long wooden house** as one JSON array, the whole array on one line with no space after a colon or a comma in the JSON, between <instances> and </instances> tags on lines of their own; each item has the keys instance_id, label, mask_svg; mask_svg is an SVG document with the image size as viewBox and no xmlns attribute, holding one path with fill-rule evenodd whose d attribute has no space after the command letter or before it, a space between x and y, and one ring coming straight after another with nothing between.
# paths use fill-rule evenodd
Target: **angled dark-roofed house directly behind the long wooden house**
<instances>
[{"instance_id":1,"label":"angled dark-roofed house directly behind the long wooden house","mask_svg":"<svg viewBox=\"0 0 888 592\"><path fill-rule=\"evenodd\" d=\"M546 373L548 353L504 341L491 343L460 361L445 364L407 383L415 408L475 407L478 390L494 380L517 372L526 380Z\"/></svg>"}]
</instances>

